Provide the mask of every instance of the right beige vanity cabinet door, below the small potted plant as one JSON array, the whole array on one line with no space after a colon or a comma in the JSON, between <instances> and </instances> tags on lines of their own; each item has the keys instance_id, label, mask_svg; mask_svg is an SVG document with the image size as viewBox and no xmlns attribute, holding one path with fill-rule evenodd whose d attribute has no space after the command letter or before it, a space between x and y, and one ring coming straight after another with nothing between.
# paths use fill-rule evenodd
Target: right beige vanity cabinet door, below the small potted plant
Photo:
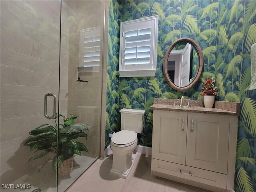
<instances>
[{"instance_id":1,"label":"right beige vanity cabinet door, below the small potted plant","mask_svg":"<svg viewBox=\"0 0 256 192\"><path fill-rule=\"evenodd\" d=\"M228 115L188 113L186 165L227 174L229 126Z\"/></svg>"}]
</instances>

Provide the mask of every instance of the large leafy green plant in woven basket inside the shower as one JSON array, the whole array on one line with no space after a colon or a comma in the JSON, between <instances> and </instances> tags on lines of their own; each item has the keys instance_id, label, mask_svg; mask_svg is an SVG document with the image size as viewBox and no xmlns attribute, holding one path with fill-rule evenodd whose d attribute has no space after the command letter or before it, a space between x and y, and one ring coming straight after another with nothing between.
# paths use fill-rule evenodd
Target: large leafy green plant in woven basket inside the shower
<instances>
[{"instance_id":1,"label":"large leafy green plant in woven basket inside the shower","mask_svg":"<svg viewBox=\"0 0 256 192\"><path fill-rule=\"evenodd\" d=\"M30 135L32 138L24 144L25 146L30 146L30 151L42 151L31 157L28 161L42 158L50 152L56 154L53 158L49 158L42 167L48 161L52 160L52 168L55 172L58 170L58 177L64 177L72 172L73 156L75 154L81 156L81 151L87 152L86 146L81 142L76 141L76 139L78 137L87 138L88 135L83 131L88 131L88 125L74 124L74 120L78 118L78 116L74 114L71 114L70 116L70 118L66 118L61 114L56 114L54 117L55 126L42 124L41 126L31 130ZM58 117L63 118L63 124L59 123L59 126L56 122L56 118Z\"/></svg>"}]
</instances>

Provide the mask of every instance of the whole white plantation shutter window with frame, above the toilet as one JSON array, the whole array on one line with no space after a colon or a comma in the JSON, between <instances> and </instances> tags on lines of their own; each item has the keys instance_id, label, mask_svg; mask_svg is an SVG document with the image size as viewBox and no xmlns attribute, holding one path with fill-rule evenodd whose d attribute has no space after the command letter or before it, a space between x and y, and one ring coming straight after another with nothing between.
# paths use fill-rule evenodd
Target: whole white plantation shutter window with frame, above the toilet
<instances>
[{"instance_id":1,"label":"whole white plantation shutter window with frame, above the toilet","mask_svg":"<svg viewBox=\"0 0 256 192\"><path fill-rule=\"evenodd\" d=\"M158 16L121 22L120 77L155 76Z\"/></svg>"}]
</instances>

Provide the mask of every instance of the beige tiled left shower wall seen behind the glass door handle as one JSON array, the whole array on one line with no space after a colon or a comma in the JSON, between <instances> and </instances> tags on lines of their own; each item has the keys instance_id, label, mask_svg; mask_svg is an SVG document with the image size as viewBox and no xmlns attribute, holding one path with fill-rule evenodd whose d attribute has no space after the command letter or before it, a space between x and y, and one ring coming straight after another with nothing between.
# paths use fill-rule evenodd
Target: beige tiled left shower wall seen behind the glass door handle
<instances>
[{"instance_id":1,"label":"beige tiled left shower wall seen behind the glass door handle","mask_svg":"<svg viewBox=\"0 0 256 192\"><path fill-rule=\"evenodd\" d=\"M60 1L1 1L1 184L8 184L42 165L28 162L24 142L29 130L54 123L44 115L44 95L58 95ZM68 58L63 30L62 60ZM68 74L62 62L61 74ZM64 77L63 77L64 78ZM65 82L66 81L66 82ZM68 79L60 89L61 113L67 113ZM52 113L48 98L48 114ZM45 159L48 157L45 157Z\"/></svg>"}]
</instances>

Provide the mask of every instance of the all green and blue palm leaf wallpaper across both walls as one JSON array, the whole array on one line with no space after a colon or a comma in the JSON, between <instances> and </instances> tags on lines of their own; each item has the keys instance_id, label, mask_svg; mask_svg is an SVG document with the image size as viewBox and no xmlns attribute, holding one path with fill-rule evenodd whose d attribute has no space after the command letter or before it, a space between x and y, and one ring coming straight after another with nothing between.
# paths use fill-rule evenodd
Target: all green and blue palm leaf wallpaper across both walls
<instances>
[{"instance_id":1,"label":"all green and blue palm leaf wallpaper across both walls","mask_svg":"<svg viewBox=\"0 0 256 192\"><path fill-rule=\"evenodd\" d=\"M119 78L120 22L159 16L155 77ZM202 99L201 83L215 77L217 100L240 102L236 155L236 192L256 191L256 90L250 86L250 46L256 43L254 0L125 0L110 1L108 31L106 140L120 130L122 108L146 110L138 144L152 146L153 98ZM162 64L168 46L176 39L196 40L204 54L204 73L194 88L179 92L166 83Z\"/></svg>"}]
</instances>

